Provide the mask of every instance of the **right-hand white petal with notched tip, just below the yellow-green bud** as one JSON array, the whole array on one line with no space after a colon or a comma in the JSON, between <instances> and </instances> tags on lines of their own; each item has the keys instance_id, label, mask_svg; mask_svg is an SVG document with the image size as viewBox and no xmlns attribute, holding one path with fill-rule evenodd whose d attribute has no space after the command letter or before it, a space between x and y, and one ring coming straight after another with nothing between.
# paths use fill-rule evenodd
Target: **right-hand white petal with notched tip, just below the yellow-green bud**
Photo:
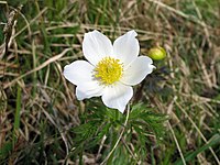
<instances>
[{"instance_id":1,"label":"right-hand white petal with notched tip, just below the yellow-green bud","mask_svg":"<svg viewBox=\"0 0 220 165\"><path fill-rule=\"evenodd\" d=\"M140 84L146 75L155 68L153 61L147 56L140 56L129 66L127 66L121 82L130 86Z\"/></svg>"}]
</instances>

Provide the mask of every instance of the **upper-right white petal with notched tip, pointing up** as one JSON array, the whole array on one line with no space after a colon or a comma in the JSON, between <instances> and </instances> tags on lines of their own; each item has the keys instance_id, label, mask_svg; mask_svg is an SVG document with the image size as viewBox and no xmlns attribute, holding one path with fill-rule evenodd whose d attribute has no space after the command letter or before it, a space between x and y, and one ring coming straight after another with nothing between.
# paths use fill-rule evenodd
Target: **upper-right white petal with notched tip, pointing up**
<instances>
[{"instance_id":1,"label":"upper-right white petal with notched tip, pointing up","mask_svg":"<svg viewBox=\"0 0 220 165\"><path fill-rule=\"evenodd\" d=\"M132 30L118 37L113 43L113 53L117 58L122 61L124 66L133 62L139 55L140 45L135 38L136 35L136 32Z\"/></svg>"}]
</instances>

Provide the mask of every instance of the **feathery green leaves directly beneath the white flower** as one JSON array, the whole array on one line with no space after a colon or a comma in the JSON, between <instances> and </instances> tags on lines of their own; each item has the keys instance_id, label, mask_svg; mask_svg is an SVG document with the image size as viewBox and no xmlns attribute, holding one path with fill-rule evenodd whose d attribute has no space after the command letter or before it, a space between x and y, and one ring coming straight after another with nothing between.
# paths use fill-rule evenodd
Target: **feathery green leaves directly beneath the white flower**
<instances>
[{"instance_id":1,"label":"feathery green leaves directly beneath the white flower","mask_svg":"<svg viewBox=\"0 0 220 165\"><path fill-rule=\"evenodd\" d=\"M124 125L125 114L103 107L100 101L88 102L87 107L86 113L81 114L81 124L73 129L75 155L94 152L100 145L105 145L108 146L103 147L102 158L105 158L119 139L121 130L124 129L122 139L108 162L118 164L121 160L119 157L123 155L123 160L135 164L138 161L144 161L152 142L156 144L164 135L163 123L167 118L155 113L143 103L131 107L127 125ZM107 140L101 144L103 136Z\"/></svg>"}]
</instances>

